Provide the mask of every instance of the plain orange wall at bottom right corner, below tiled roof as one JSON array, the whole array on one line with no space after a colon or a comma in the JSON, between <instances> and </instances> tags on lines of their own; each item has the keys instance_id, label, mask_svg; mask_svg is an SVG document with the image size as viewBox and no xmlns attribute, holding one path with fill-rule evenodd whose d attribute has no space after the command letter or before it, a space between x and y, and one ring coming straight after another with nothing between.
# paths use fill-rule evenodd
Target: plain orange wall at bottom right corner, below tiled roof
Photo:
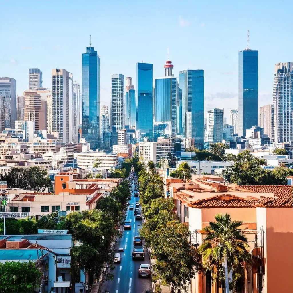
<instances>
[{"instance_id":1,"label":"plain orange wall at bottom right corner, below tiled roof","mask_svg":"<svg viewBox=\"0 0 293 293\"><path fill-rule=\"evenodd\" d=\"M289 293L292 287L293 209L266 208L267 293Z\"/></svg>"}]
</instances>

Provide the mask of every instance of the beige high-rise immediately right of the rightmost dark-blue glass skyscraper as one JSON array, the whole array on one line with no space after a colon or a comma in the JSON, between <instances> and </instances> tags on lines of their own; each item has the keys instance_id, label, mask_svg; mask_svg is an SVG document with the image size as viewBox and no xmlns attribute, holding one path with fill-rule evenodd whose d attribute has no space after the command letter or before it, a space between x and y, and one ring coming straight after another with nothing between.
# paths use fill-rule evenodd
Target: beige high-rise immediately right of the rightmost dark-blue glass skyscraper
<instances>
[{"instance_id":1,"label":"beige high-rise immediately right of the rightmost dark-blue glass skyscraper","mask_svg":"<svg viewBox=\"0 0 293 293\"><path fill-rule=\"evenodd\" d=\"M263 128L263 134L268 134L272 141L275 139L275 107L266 105L259 107L258 126Z\"/></svg>"}]
</instances>

